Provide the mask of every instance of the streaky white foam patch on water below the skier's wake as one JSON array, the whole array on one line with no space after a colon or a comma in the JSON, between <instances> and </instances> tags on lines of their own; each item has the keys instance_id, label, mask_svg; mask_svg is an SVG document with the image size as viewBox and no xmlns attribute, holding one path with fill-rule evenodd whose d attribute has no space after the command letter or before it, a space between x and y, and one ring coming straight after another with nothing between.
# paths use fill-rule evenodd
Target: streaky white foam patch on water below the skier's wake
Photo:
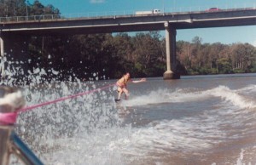
<instances>
[{"instance_id":1,"label":"streaky white foam patch on water below the skier's wake","mask_svg":"<svg viewBox=\"0 0 256 165\"><path fill-rule=\"evenodd\" d=\"M171 154L170 151L204 150L218 144L225 136L214 121L205 125L197 119L185 118L154 122L145 128L133 128L130 136L111 142L111 147L113 151L119 150L132 156Z\"/></svg>"}]
</instances>

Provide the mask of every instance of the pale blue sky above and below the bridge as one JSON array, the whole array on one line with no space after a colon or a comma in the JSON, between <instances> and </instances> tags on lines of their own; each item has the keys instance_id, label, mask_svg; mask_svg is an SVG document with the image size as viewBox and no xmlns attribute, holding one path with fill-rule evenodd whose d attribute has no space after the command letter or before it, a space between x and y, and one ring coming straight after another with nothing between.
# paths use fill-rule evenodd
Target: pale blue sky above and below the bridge
<instances>
[{"instance_id":1,"label":"pale blue sky above and below the bridge","mask_svg":"<svg viewBox=\"0 0 256 165\"><path fill-rule=\"evenodd\" d=\"M219 9L256 8L255 0L39 0L52 4L68 17L74 15L131 14L135 11L160 9L161 12L196 11L212 7ZM33 0L29 0L33 3ZM160 31L165 36L164 31ZM250 43L256 47L256 25L221 28L177 30L177 41L192 42L201 37L202 43Z\"/></svg>"}]
</instances>

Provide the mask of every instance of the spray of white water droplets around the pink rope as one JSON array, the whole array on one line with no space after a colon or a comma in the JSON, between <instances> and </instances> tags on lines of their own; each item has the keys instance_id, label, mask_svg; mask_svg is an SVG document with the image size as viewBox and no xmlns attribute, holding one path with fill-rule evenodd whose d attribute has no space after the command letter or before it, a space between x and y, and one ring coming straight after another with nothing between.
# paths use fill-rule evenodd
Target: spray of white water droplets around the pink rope
<instances>
[{"instance_id":1,"label":"spray of white water droplets around the pink rope","mask_svg":"<svg viewBox=\"0 0 256 165\"><path fill-rule=\"evenodd\" d=\"M1 79L1 83L12 86L13 83L17 83L15 75L22 75L22 72L20 68L10 68L9 66L5 71L6 77ZM51 82L46 81L47 77L49 77L49 72L56 76ZM61 71L53 69L45 71L41 68L35 68L33 71L28 71L28 74L19 81L26 98L26 105L37 105L38 103L94 90L109 84L108 82L82 82L77 77L74 78L74 82L61 82L58 81L57 77L61 74ZM97 75L95 74L95 76ZM71 78L69 79L71 80ZM97 77L91 79L97 79ZM79 151L73 153L73 158L70 155L70 151L73 148L80 147L75 139L87 139L86 143L81 140L80 145L83 145L81 143L84 142L84 145L87 144L87 146L84 146L87 148L84 151L90 151L92 149L90 146L92 145L88 144L88 142L95 143L96 141L91 139L100 137L97 136L98 133L119 128L119 118L116 114L112 93L113 89L108 88L96 93L79 96L75 99L22 112L18 117L15 132L46 164L59 162L55 158L63 151L67 151L67 155L62 157L64 164L68 162L71 162L68 164L83 164L81 161L84 159L81 159L80 162L74 161L76 160L76 153L79 154ZM78 134L82 135L78 137ZM99 142L101 140L98 139ZM73 145L65 145L63 142L66 144L73 142ZM97 148L96 151L102 151L102 148ZM92 152L89 153L93 154ZM106 157L106 161L111 162L109 156L104 156L108 152L102 151L100 153L102 153L102 155L98 155L102 156L100 160L103 161L104 157ZM118 155L116 154L116 156ZM68 156L69 158L66 160L65 157ZM87 159L89 157L85 156L84 158ZM96 164L98 159L90 158L89 160L92 164Z\"/></svg>"}]
</instances>

